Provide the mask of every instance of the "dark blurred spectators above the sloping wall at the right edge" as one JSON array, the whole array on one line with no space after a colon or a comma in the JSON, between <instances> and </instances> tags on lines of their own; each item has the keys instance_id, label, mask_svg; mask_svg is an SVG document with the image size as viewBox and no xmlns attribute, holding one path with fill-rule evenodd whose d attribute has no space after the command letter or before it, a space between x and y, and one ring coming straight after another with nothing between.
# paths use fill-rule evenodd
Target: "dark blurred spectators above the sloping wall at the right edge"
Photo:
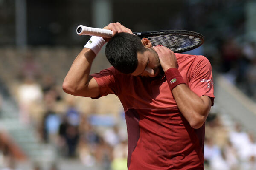
<instances>
[{"instance_id":1,"label":"dark blurred spectators above the sloping wall at the right edge","mask_svg":"<svg viewBox=\"0 0 256 170\"><path fill-rule=\"evenodd\" d=\"M241 91L256 101L256 42L225 40L220 48L218 70ZM215 65L216 66L216 65Z\"/></svg>"}]
</instances>

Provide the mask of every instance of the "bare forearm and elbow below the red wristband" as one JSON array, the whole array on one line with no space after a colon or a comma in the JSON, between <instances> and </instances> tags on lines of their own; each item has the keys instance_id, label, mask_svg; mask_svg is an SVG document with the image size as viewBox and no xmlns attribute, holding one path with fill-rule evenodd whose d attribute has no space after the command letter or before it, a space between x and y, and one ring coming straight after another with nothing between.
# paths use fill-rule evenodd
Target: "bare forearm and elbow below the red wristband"
<instances>
[{"instance_id":1,"label":"bare forearm and elbow below the red wristband","mask_svg":"<svg viewBox=\"0 0 256 170\"><path fill-rule=\"evenodd\" d=\"M193 128L201 127L210 111L211 100L208 96L199 97L186 84L172 89L177 106Z\"/></svg>"}]
</instances>

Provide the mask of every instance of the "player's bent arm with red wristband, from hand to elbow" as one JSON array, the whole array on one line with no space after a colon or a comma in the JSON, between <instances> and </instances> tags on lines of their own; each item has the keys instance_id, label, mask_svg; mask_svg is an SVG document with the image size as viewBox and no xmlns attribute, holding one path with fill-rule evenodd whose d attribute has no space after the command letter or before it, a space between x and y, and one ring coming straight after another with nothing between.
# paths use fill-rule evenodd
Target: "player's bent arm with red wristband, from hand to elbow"
<instances>
[{"instance_id":1,"label":"player's bent arm with red wristband, from hand to elbow","mask_svg":"<svg viewBox=\"0 0 256 170\"><path fill-rule=\"evenodd\" d=\"M159 61L165 75L169 74L169 78L173 77L173 79L169 79L171 80L169 86L170 89L172 88L172 95L177 103L177 107L191 127L195 129L200 128L207 119L212 105L210 97L198 96L185 84L180 72L177 70L177 59L173 51L164 46L154 47L154 50L159 56ZM168 80L167 75L166 79Z\"/></svg>"}]
</instances>

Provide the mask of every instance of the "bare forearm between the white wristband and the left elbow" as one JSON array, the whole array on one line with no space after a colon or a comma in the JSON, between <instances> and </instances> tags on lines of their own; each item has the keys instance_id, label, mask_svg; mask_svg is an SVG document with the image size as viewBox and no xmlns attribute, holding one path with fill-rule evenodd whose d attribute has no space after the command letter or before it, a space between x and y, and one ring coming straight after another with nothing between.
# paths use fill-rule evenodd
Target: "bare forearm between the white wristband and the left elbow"
<instances>
[{"instance_id":1,"label":"bare forearm between the white wristband and the left elbow","mask_svg":"<svg viewBox=\"0 0 256 170\"><path fill-rule=\"evenodd\" d=\"M86 87L95 56L94 52L89 48L84 48L78 54L64 79L62 87L65 92L75 93Z\"/></svg>"}]
</instances>

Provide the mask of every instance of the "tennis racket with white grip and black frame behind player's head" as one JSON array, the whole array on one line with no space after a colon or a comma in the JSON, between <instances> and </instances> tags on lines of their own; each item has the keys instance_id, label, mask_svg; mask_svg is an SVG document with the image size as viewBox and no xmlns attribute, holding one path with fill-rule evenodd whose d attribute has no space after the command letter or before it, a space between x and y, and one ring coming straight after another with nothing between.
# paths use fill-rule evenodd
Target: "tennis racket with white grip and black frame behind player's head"
<instances>
[{"instance_id":1,"label":"tennis racket with white grip and black frame behind player's head","mask_svg":"<svg viewBox=\"0 0 256 170\"><path fill-rule=\"evenodd\" d=\"M99 37L112 37L113 31L86 26L78 26L76 33L79 35L95 35ZM140 38L148 38L153 46L163 45L170 48L175 53L182 53L198 48L204 43L204 37L194 31L186 30L162 30L133 32Z\"/></svg>"}]
</instances>

